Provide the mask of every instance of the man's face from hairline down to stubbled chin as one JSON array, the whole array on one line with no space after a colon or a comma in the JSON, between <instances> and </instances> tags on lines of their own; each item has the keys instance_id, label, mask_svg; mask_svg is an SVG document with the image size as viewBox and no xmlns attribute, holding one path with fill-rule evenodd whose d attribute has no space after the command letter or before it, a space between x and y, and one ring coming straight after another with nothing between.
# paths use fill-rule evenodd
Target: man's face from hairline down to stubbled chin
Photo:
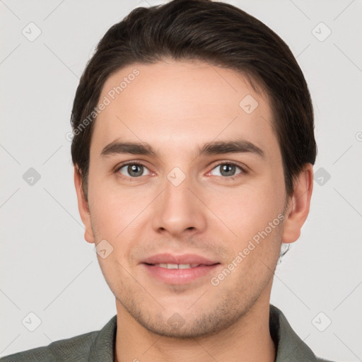
<instances>
[{"instance_id":1,"label":"man's face from hairline down to stubbled chin","mask_svg":"<svg viewBox=\"0 0 362 362\"><path fill-rule=\"evenodd\" d=\"M197 337L269 304L286 189L267 95L230 69L168 61L117 71L105 97L80 209L117 313Z\"/></svg>"}]
</instances>

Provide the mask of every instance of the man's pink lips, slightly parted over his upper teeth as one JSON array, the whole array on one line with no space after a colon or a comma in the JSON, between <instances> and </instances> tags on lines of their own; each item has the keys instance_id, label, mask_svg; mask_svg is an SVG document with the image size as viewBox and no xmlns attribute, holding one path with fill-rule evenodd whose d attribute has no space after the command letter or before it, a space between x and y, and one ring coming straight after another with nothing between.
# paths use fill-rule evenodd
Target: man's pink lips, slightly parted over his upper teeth
<instances>
[{"instance_id":1,"label":"man's pink lips, slightly parted over his upper teeth","mask_svg":"<svg viewBox=\"0 0 362 362\"><path fill-rule=\"evenodd\" d=\"M154 264L199 264L197 267L187 269L167 269ZM200 255L171 255L158 254L148 257L141 262L147 274L162 281L163 284L189 284L196 279L207 276L220 265L219 262L206 259Z\"/></svg>"}]
</instances>

